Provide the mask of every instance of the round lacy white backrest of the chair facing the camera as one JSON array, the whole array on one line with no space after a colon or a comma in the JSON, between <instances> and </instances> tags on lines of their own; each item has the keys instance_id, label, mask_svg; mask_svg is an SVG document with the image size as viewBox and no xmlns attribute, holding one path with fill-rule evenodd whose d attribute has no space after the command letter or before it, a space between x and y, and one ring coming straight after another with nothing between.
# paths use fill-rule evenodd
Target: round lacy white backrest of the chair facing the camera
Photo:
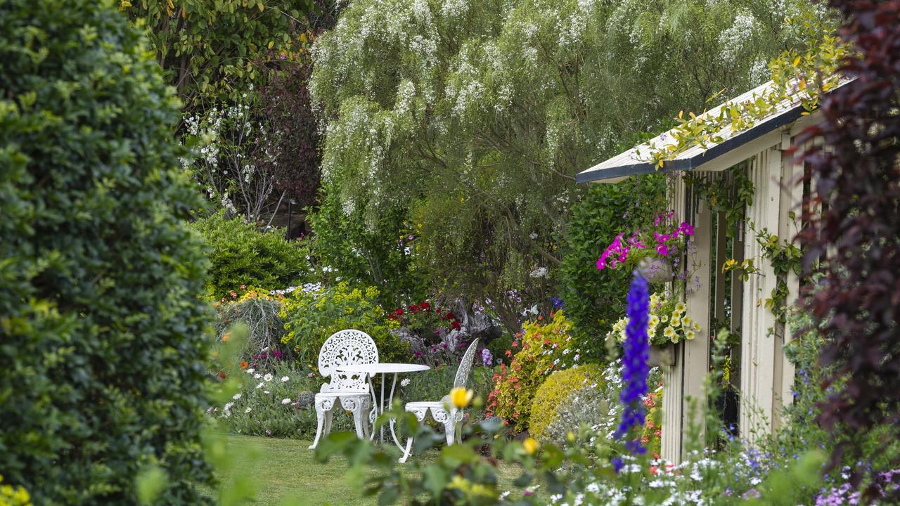
<instances>
[{"instance_id":1,"label":"round lacy white backrest of the chair facing the camera","mask_svg":"<svg viewBox=\"0 0 900 506\"><path fill-rule=\"evenodd\" d=\"M358 364L377 364L378 348L375 341L362 330L341 330L325 339L319 351L319 372L331 377L331 382L322 384L322 392L366 391L365 375L341 373L338 367Z\"/></svg>"}]
</instances>

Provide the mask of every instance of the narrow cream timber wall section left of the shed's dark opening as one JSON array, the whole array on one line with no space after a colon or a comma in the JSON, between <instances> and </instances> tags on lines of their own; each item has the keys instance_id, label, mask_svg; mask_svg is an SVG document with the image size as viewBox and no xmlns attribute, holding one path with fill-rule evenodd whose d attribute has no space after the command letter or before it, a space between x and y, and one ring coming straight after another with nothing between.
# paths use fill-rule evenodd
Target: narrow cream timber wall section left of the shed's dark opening
<instances>
[{"instance_id":1,"label":"narrow cream timber wall section left of the shed's dark opening","mask_svg":"<svg viewBox=\"0 0 900 506\"><path fill-rule=\"evenodd\" d=\"M688 294L685 303L690 318L698 321L704 328L698 339L678 345L675 366L663 368L662 457L675 462L685 458L682 440L684 429L689 423L702 424L706 408L703 383L709 370L707 332L711 316L709 298L712 286L709 264L714 230L712 212L707 210L706 203L699 201L685 186L681 176L673 178L673 184L669 187L669 203L677 222L688 221L694 226L697 254L690 259L694 264L689 267L689 271L694 271L694 276L698 279L687 279L686 284L691 287L699 285L699 289ZM696 410L689 409L691 399L696 402ZM694 415L694 420L688 419L691 414Z\"/></svg>"}]
</instances>

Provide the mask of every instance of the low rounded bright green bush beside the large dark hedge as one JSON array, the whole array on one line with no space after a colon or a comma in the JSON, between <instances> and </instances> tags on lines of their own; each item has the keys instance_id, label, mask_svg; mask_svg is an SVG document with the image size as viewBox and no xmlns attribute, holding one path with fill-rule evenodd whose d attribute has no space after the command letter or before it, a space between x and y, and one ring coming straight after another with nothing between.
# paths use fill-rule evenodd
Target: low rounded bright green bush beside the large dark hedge
<instances>
[{"instance_id":1,"label":"low rounded bright green bush beside the large dark hedge","mask_svg":"<svg viewBox=\"0 0 900 506\"><path fill-rule=\"evenodd\" d=\"M229 296L241 285L285 288L308 275L304 250L278 231L259 230L240 218L226 220L221 212L194 221L191 227L210 247L207 286L215 299Z\"/></svg>"}]
</instances>

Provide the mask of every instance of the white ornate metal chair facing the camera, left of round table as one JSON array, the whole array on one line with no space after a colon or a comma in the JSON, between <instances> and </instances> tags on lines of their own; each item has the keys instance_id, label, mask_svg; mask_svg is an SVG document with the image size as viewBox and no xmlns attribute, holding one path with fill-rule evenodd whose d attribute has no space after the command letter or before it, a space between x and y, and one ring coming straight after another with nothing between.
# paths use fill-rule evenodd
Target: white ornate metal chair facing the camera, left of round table
<instances>
[{"instance_id":1,"label":"white ornate metal chair facing the camera, left of round table","mask_svg":"<svg viewBox=\"0 0 900 506\"><path fill-rule=\"evenodd\" d=\"M378 348L375 341L362 330L341 330L325 340L319 351L319 372L331 378L316 393L316 439L310 449L319 444L322 436L331 431L331 417L335 408L343 406L353 413L356 436L369 437L368 411L372 409L372 393L366 375L338 372L338 367L359 364L377 364Z\"/></svg>"}]
</instances>

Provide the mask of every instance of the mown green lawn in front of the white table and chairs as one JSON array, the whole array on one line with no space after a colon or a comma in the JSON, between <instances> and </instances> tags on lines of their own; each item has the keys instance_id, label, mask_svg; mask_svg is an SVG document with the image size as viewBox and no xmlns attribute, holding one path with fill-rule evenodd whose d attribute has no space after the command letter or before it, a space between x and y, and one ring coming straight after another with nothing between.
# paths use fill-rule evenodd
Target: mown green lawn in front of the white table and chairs
<instances>
[{"instance_id":1,"label":"mown green lawn in front of the white table and chairs","mask_svg":"<svg viewBox=\"0 0 900 506\"><path fill-rule=\"evenodd\" d=\"M226 484L238 477L250 478L256 484L256 500L252 504L367 506L377 503L376 498L362 497L365 475L348 474L347 459L343 457L332 458L327 464L316 462L312 450L307 449L311 441L233 435L226 441L232 455L256 454L256 457L238 458L233 471L219 476ZM437 450L431 450L413 458L436 456ZM516 466L500 467L500 483L509 484L516 476Z\"/></svg>"}]
</instances>

